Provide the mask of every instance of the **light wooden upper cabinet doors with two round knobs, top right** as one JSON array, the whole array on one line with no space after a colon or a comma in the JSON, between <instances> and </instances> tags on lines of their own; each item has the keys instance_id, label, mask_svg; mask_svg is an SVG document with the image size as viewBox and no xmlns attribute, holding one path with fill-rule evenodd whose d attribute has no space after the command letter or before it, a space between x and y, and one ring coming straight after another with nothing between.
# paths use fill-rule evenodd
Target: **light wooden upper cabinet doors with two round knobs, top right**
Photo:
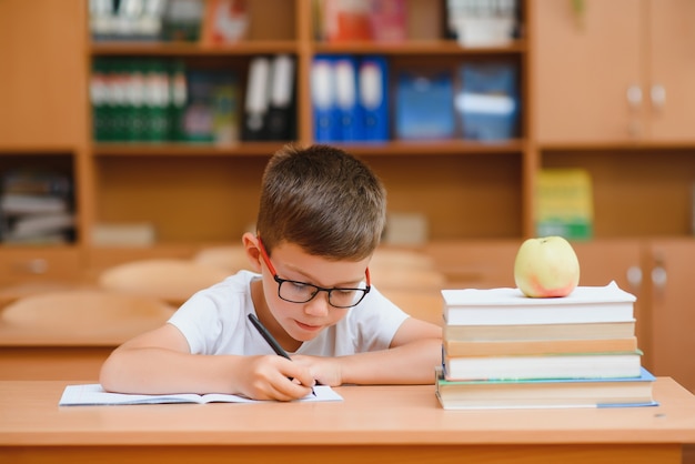
<instances>
[{"instance_id":1,"label":"light wooden upper cabinet doors with two round knobs, top right","mask_svg":"<svg viewBox=\"0 0 695 464\"><path fill-rule=\"evenodd\" d=\"M534 0L537 141L694 142L688 0Z\"/></svg>"}]
</instances>

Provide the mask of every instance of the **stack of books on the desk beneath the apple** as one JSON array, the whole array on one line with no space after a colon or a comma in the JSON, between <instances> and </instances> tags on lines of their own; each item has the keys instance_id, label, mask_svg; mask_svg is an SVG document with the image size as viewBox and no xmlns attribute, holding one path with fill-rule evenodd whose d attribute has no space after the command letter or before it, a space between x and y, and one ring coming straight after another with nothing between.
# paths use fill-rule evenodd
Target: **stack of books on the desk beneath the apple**
<instances>
[{"instance_id":1,"label":"stack of books on the desk beneath the apple","mask_svg":"<svg viewBox=\"0 0 695 464\"><path fill-rule=\"evenodd\" d=\"M635 296L615 282L556 299L443 290L436 395L444 408L656 404L641 364Z\"/></svg>"}]
</instances>

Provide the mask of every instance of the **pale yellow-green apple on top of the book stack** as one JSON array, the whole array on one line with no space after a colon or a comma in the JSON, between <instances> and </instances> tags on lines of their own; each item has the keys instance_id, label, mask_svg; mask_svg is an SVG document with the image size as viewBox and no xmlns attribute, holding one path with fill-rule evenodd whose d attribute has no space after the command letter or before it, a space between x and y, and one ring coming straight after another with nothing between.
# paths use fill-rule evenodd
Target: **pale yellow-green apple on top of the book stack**
<instances>
[{"instance_id":1,"label":"pale yellow-green apple on top of the book stack","mask_svg":"<svg viewBox=\"0 0 695 464\"><path fill-rule=\"evenodd\" d=\"M567 296L580 283L580 260L562 236L528 239L516 253L514 282L526 296Z\"/></svg>"}]
</instances>

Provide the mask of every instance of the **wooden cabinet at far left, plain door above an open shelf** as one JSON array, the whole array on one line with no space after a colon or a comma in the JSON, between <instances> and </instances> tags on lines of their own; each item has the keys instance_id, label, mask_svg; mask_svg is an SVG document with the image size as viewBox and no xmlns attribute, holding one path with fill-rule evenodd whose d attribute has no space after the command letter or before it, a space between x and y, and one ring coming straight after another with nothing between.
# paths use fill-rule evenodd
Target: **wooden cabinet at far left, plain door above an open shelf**
<instances>
[{"instance_id":1,"label":"wooden cabinet at far left, plain door above an open shelf","mask_svg":"<svg viewBox=\"0 0 695 464\"><path fill-rule=\"evenodd\" d=\"M77 2L0 2L0 175L50 169L74 180L74 209L88 203L91 176L84 157L87 128L87 19ZM78 26L75 26L78 24ZM79 216L85 225L84 218ZM0 245L0 283L74 280L83 269L75 243Z\"/></svg>"}]
</instances>

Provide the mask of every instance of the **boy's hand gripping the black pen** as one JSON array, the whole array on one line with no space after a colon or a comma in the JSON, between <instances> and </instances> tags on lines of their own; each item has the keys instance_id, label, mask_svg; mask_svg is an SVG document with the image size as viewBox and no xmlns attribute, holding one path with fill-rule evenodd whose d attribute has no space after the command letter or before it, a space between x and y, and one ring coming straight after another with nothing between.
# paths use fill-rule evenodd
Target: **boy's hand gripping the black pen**
<instances>
[{"instance_id":1,"label":"boy's hand gripping the black pen","mask_svg":"<svg viewBox=\"0 0 695 464\"><path fill-rule=\"evenodd\" d=\"M292 401L312 392L314 379L306 366L282 356L244 356L241 394L254 400Z\"/></svg>"}]
</instances>

